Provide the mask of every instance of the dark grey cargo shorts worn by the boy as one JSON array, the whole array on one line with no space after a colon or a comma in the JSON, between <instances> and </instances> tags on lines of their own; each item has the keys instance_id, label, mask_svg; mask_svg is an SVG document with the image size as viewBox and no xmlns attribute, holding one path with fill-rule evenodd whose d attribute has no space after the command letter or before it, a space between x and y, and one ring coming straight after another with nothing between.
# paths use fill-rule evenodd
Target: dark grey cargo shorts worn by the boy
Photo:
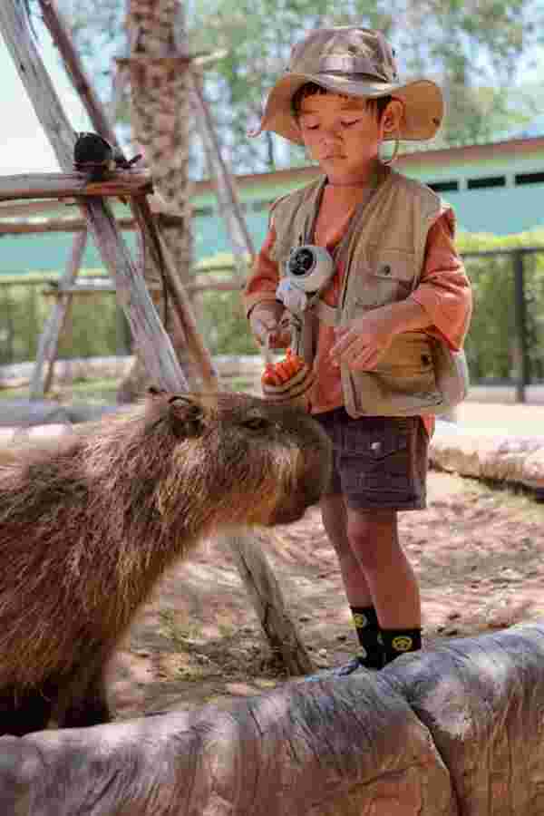
<instances>
[{"instance_id":1,"label":"dark grey cargo shorts worn by the boy","mask_svg":"<svg viewBox=\"0 0 544 816\"><path fill-rule=\"evenodd\" d=\"M345 408L313 414L333 442L325 494L342 493L352 510L423 510L429 437L419 416L364 416Z\"/></svg>"}]
</instances>

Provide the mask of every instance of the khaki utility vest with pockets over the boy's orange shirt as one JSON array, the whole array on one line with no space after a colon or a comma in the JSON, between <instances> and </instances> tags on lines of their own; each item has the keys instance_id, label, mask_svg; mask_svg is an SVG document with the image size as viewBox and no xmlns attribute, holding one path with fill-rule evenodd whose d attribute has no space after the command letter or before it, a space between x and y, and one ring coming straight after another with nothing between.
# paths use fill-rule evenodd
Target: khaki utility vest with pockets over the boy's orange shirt
<instances>
[{"instance_id":1,"label":"khaki utility vest with pockets over the boy's orange shirt","mask_svg":"<svg viewBox=\"0 0 544 816\"><path fill-rule=\"evenodd\" d=\"M441 199L417 181L382 168L372 198L341 250L345 277L338 305L313 307L327 325L345 325L370 309L400 301L419 283L427 234L442 210ZM278 199L272 210L276 242L272 256L283 275L292 248L312 242L325 179ZM316 332L313 334L314 344ZM397 335L372 371L341 367L344 403L353 417L443 413L450 407L437 384L447 354L444 344L421 331ZM441 356L442 355L442 356ZM306 350L312 364L313 349Z\"/></svg>"}]
</instances>

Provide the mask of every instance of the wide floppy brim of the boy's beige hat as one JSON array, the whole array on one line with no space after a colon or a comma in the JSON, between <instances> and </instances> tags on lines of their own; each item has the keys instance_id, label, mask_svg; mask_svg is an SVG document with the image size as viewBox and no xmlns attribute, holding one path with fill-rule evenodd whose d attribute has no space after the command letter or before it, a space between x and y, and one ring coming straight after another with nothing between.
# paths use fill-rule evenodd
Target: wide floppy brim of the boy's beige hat
<instances>
[{"instance_id":1,"label":"wide floppy brim of the boy's beige hat","mask_svg":"<svg viewBox=\"0 0 544 816\"><path fill-rule=\"evenodd\" d=\"M442 124L444 102L440 87L432 80L418 79L409 83L382 83L372 79L355 81L338 74L289 73L278 80L268 94L265 112L255 135L262 131L274 131L288 141L303 144L300 129L291 108L293 95L302 85L316 83L327 91L345 96L378 99L394 96L404 103L404 115L400 130L390 139L426 141L432 139Z\"/></svg>"}]
</instances>

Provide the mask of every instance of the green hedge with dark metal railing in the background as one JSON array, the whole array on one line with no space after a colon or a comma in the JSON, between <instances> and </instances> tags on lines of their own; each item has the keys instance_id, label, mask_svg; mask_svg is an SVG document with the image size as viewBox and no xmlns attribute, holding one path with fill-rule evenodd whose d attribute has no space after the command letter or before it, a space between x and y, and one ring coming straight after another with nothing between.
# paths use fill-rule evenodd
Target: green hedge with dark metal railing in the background
<instances>
[{"instance_id":1,"label":"green hedge with dark metal railing in the background","mask_svg":"<svg viewBox=\"0 0 544 816\"><path fill-rule=\"evenodd\" d=\"M517 401L523 403L530 384L544 383L544 247L467 251L462 257L474 289L466 344L472 383L513 385ZM228 271L233 270L221 267L201 275L199 270L190 287L193 296L230 291L228 303L234 309L239 284L225 277ZM107 286L107 278L98 280L92 294L73 297L59 349L62 358L130 353L126 319L112 296L113 288ZM51 293L43 278L0 277L0 364L34 359L53 306ZM206 308L205 302L206 297L204 301L199 297L197 313ZM228 316L223 306L216 314ZM239 334L239 325L236 331ZM232 353L228 337L223 342L225 347L214 349L214 354Z\"/></svg>"}]
</instances>

